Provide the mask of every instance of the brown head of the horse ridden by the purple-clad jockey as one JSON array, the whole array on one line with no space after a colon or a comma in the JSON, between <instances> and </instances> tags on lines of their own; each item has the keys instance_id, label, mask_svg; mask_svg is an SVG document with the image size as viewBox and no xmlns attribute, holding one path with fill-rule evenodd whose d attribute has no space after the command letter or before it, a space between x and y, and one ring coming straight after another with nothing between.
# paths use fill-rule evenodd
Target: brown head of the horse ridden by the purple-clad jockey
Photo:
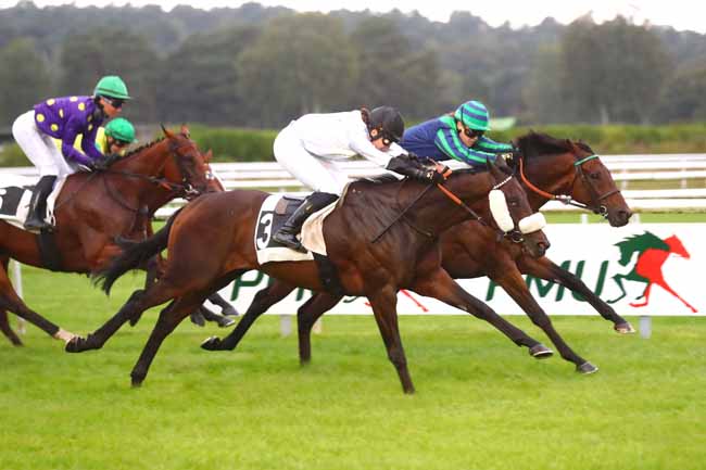
<instances>
[{"instance_id":1,"label":"brown head of the horse ridden by the purple-clad jockey","mask_svg":"<svg viewBox=\"0 0 706 470\"><path fill-rule=\"evenodd\" d=\"M196 198L212 191L216 186L212 179L209 161L211 151L201 153L196 142L189 136L187 126L181 126L179 132L173 132L162 126L165 140L168 141L173 158L164 165L164 177L174 185L180 185L187 199Z\"/></svg>"}]
</instances>

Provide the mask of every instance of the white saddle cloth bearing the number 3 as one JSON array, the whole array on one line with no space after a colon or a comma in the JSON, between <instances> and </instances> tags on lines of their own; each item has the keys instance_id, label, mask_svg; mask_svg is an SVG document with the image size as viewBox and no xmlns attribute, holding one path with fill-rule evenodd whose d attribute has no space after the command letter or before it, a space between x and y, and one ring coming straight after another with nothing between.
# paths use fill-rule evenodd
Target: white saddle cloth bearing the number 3
<instances>
[{"instance_id":1,"label":"white saddle cloth bearing the number 3","mask_svg":"<svg viewBox=\"0 0 706 470\"><path fill-rule=\"evenodd\" d=\"M324 219L336 208L336 202L312 214L302 226L302 244L308 252L300 253L273 240L273 234L285 225L289 216L301 205L302 199L270 194L260 207L255 225L255 252L257 263L312 261L312 252L326 255Z\"/></svg>"}]
</instances>

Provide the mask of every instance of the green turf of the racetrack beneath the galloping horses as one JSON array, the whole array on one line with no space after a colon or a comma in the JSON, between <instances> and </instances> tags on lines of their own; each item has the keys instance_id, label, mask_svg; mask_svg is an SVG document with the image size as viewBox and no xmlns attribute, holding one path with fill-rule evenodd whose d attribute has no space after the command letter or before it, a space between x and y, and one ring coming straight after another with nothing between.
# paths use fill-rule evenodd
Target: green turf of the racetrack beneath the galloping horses
<instances>
[{"instance_id":1,"label":"green turf of the racetrack beneath the galloping horses","mask_svg":"<svg viewBox=\"0 0 706 470\"><path fill-rule=\"evenodd\" d=\"M80 333L140 280L121 280L106 300L79 276L24 276L27 302ZM370 317L325 318L306 368L276 317L232 353L198 347L224 330L184 323L133 390L154 318L80 355L34 327L26 347L0 341L0 469L706 468L704 318L655 318L644 340L597 317L555 317L601 367L582 377L469 317L401 317L413 396Z\"/></svg>"}]
</instances>

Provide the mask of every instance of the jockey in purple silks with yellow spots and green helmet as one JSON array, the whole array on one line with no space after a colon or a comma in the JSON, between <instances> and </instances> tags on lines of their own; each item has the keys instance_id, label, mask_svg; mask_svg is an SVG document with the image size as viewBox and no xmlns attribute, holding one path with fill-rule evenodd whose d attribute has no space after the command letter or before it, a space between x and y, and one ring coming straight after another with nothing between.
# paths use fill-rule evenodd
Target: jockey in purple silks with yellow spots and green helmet
<instances>
[{"instance_id":1,"label":"jockey in purple silks with yellow spots and green helmet","mask_svg":"<svg viewBox=\"0 0 706 470\"><path fill-rule=\"evenodd\" d=\"M31 194L25 229L52 228L45 216L47 196L56 177L75 173L79 165L91 169L97 166L103 157L96 148L98 128L106 117L116 116L129 99L125 82L117 76L106 76L98 81L92 97L50 98L15 119L12 135L40 176ZM74 148L79 135L81 150ZM61 152L52 138L61 140Z\"/></svg>"}]
</instances>

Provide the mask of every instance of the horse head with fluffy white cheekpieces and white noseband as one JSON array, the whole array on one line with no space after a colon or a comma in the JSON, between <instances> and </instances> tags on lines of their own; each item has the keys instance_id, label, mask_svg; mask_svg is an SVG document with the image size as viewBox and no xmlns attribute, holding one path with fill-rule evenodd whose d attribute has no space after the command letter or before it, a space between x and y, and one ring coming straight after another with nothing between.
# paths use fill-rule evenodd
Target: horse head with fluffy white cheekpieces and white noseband
<instances>
[{"instance_id":1,"label":"horse head with fluffy white cheekpieces and white noseband","mask_svg":"<svg viewBox=\"0 0 706 470\"><path fill-rule=\"evenodd\" d=\"M527 193L504 160L488 161L494 186L488 194L494 226L533 257L544 256L550 242L542 231L546 225L541 213L534 213Z\"/></svg>"}]
</instances>

